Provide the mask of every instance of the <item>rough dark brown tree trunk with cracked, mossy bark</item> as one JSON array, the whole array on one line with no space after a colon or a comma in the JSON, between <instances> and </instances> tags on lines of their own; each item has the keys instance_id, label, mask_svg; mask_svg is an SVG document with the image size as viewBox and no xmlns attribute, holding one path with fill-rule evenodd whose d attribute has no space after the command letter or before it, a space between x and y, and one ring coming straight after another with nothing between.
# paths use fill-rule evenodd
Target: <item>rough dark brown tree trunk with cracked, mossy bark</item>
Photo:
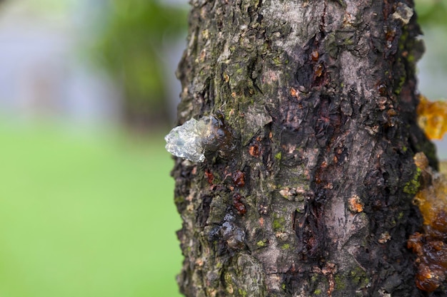
<instances>
[{"instance_id":1,"label":"rough dark brown tree trunk with cracked, mossy bark","mask_svg":"<svg viewBox=\"0 0 447 297\"><path fill-rule=\"evenodd\" d=\"M416 125L413 1L191 6L178 121L219 115L236 149L176 159L181 292L426 296L406 249L413 155L438 166Z\"/></svg>"}]
</instances>

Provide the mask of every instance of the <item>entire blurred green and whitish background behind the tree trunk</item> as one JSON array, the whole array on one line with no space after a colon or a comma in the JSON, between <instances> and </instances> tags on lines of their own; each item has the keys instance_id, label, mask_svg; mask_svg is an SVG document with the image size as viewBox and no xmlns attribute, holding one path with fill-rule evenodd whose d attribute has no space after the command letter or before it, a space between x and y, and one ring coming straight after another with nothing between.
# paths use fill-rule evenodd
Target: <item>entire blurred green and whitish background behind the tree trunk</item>
<instances>
[{"instance_id":1,"label":"entire blurred green and whitish background behind the tree trunk","mask_svg":"<svg viewBox=\"0 0 447 297\"><path fill-rule=\"evenodd\" d=\"M416 2L419 88L445 98L447 3ZM188 10L186 0L0 0L0 297L180 296L163 137Z\"/></svg>"}]
</instances>

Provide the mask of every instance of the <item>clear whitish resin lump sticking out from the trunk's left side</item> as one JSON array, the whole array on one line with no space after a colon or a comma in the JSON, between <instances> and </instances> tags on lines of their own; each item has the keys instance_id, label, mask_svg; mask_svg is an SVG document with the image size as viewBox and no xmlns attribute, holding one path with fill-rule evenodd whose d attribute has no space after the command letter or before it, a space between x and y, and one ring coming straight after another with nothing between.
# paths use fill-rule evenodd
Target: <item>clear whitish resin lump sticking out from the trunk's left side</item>
<instances>
[{"instance_id":1,"label":"clear whitish resin lump sticking out from the trunk's left side","mask_svg":"<svg viewBox=\"0 0 447 297\"><path fill-rule=\"evenodd\" d=\"M186 121L183 125L175 127L169 132L166 140L166 150L176 157L181 157L193 162L204 162L203 140L210 132L209 119L205 123L200 120Z\"/></svg>"}]
</instances>

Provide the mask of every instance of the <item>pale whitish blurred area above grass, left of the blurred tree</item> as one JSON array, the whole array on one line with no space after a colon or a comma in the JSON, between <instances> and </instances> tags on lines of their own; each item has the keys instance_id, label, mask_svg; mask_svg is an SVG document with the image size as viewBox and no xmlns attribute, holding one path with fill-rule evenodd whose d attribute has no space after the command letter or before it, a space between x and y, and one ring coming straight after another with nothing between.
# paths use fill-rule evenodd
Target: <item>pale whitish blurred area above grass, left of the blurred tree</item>
<instances>
[{"instance_id":1,"label":"pale whitish blurred area above grass, left of the blurred tree","mask_svg":"<svg viewBox=\"0 0 447 297\"><path fill-rule=\"evenodd\" d=\"M89 17L99 4L98 0L1 3L2 114L89 124L116 120L119 88L82 57L81 44L90 37Z\"/></svg>"}]
</instances>

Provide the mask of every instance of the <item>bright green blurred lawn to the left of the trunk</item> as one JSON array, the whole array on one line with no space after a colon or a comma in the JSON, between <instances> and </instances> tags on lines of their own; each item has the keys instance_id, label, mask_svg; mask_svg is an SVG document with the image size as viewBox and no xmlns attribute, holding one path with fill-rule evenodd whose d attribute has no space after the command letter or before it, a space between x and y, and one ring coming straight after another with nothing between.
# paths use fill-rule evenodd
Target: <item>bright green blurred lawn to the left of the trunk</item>
<instances>
[{"instance_id":1,"label":"bright green blurred lawn to the left of the trunk","mask_svg":"<svg viewBox=\"0 0 447 297\"><path fill-rule=\"evenodd\" d=\"M0 123L0 296L180 296L162 135Z\"/></svg>"}]
</instances>

